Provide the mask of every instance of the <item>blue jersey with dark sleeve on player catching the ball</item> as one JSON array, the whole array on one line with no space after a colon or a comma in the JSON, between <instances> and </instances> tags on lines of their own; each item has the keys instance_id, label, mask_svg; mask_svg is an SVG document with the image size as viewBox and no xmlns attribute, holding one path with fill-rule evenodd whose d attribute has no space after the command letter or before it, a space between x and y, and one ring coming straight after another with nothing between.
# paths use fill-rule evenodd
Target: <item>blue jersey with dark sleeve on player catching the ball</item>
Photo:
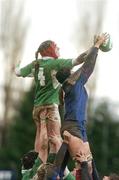
<instances>
[{"instance_id":1,"label":"blue jersey with dark sleeve on player catching the ball","mask_svg":"<svg viewBox=\"0 0 119 180\"><path fill-rule=\"evenodd\" d=\"M87 120L88 101L85 83L93 72L97 52L98 49L96 47L91 48L83 66L74 72L74 74L70 75L70 77L63 84L63 90L65 92L64 122L78 122L82 139L84 141L86 141L87 138L85 125Z\"/></svg>"}]
</instances>

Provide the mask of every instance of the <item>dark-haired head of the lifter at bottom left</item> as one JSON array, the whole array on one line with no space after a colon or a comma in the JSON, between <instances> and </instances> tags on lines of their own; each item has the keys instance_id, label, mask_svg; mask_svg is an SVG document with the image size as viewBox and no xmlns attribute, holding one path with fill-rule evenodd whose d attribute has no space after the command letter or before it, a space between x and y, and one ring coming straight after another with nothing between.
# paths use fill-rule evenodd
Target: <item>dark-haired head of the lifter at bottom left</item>
<instances>
[{"instance_id":1,"label":"dark-haired head of the lifter at bottom left","mask_svg":"<svg viewBox=\"0 0 119 180\"><path fill-rule=\"evenodd\" d=\"M28 153L24 154L21 158L21 163L24 169L31 169L37 157L38 153L35 151L29 151Z\"/></svg>"}]
</instances>

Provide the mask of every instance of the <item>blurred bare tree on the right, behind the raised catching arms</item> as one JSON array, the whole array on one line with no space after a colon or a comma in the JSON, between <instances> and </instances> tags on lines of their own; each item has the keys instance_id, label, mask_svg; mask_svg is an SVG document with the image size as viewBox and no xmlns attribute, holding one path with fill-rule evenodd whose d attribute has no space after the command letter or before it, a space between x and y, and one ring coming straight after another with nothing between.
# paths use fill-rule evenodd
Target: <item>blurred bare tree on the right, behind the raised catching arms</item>
<instances>
[{"instance_id":1,"label":"blurred bare tree on the right, behind the raised catching arms","mask_svg":"<svg viewBox=\"0 0 119 180\"><path fill-rule=\"evenodd\" d=\"M95 34L102 32L106 0L77 0L79 12L74 39L77 47L88 49L92 46ZM96 88L97 66L90 82L87 84L90 99L93 99ZM89 101L89 107L92 101Z\"/></svg>"}]
</instances>

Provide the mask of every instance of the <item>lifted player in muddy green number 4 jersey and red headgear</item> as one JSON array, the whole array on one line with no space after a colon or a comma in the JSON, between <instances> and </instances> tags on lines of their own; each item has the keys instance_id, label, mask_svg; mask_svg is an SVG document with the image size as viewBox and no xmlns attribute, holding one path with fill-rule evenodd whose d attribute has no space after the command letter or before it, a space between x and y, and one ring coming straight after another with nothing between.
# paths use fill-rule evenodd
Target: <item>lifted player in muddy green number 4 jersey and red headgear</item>
<instances>
[{"instance_id":1,"label":"lifted player in muddy green number 4 jersey and red headgear","mask_svg":"<svg viewBox=\"0 0 119 180\"><path fill-rule=\"evenodd\" d=\"M38 59L39 53L42 56L41 59ZM19 64L15 68L17 76L30 76L34 77L35 80L36 90L33 109L33 119L37 128L35 151L39 153L39 158L44 163L53 161L62 143L58 111L60 84L55 75L62 68L71 69L73 66L81 64L86 53L81 54L76 59L60 59L59 48L56 43L47 40L41 43L36 51L36 60L21 69ZM28 126L28 128L30 127ZM49 140L53 140L55 137L60 141L52 146Z\"/></svg>"}]
</instances>

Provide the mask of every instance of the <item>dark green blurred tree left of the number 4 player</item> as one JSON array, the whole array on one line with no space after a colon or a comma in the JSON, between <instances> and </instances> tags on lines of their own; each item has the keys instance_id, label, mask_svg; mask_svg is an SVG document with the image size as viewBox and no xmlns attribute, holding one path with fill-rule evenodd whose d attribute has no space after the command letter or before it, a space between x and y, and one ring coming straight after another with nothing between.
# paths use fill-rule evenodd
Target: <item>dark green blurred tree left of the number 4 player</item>
<instances>
[{"instance_id":1,"label":"dark green blurred tree left of the number 4 player","mask_svg":"<svg viewBox=\"0 0 119 180\"><path fill-rule=\"evenodd\" d=\"M12 169L20 178L20 159L24 153L34 149L35 124L32 120L33 91L24 94L18 105L17 114L9 125L7 145L0 149L0 169Z\"/></svg>"}]
</instances>

